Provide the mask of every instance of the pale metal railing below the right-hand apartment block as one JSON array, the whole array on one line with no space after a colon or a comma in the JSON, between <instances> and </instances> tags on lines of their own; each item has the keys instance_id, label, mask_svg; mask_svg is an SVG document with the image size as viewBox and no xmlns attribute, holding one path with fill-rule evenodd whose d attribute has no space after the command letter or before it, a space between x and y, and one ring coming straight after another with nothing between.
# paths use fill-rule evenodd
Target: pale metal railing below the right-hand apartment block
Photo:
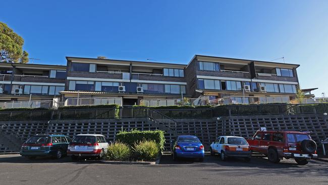
<instances>
[{"instance_id":1,"label":"pale metal railing below the right-hand apartment block","mask_svg":"<svg viewBox=\"0 0 328 185\"><path fill-rule=\"evenodd\" d=\"M235 104L274 104L289 103L288 96L281 97L224 97L209 101L209 105L235 105Z\"/></svg>"}]
</instances>

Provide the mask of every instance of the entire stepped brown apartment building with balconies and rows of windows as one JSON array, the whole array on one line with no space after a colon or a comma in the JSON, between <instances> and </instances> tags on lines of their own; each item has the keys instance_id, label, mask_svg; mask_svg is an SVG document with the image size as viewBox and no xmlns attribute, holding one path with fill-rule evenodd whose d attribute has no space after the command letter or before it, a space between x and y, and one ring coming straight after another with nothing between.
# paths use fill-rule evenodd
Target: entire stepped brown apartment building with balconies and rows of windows
<instances>
[{"instance_id":1,"label":"entire stepped brown apartment building with balconies and rows of windows","mask_svg":"<svg viewBox=\"0 0 328 185\"><path fill-rule=\"evenodd\" d=\"M53 97L296 97L297 64L195 55L186 64L66 57L67 66L0 64L0 101Z\"/></svg>"}]
</instances>

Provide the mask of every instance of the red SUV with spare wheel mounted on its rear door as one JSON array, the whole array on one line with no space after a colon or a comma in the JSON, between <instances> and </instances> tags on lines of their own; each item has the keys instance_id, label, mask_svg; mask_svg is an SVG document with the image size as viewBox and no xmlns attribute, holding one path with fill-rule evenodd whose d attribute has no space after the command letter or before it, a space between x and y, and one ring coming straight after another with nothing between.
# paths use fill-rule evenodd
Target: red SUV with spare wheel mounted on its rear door
<instances>
[{"instance_id":1,"label":"red SUV with spare wheel mounted on its rear door","mask_svg":"<svg viewBox=\"0 0 328 185\"><path fill-rule=\"evenodd\" d=\"M318 157L316 143L308 132L258 130L247 142L252 152L266 155L272 163L294 158L298 164L305 165L311 158Z\"/></svg>"}]
</instances>

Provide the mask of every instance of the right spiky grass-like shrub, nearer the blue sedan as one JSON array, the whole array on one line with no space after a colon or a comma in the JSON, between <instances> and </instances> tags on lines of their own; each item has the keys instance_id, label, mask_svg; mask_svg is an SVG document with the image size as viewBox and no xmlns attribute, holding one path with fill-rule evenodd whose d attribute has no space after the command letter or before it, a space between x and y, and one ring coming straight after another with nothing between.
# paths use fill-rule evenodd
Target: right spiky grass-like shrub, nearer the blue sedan
<instances>
[{"instance_id":1,"label":"right spiky grass-like shrub, nearer the blue sedan","mask_svg":"<svg viewBox=\"0 0 328 185\"><path fill-rule=\"evenodd\" d=\"M139 160L156 159L160 149L155 141L140 141L132 148L133 155Z\"/></svg>"}]
</instances>

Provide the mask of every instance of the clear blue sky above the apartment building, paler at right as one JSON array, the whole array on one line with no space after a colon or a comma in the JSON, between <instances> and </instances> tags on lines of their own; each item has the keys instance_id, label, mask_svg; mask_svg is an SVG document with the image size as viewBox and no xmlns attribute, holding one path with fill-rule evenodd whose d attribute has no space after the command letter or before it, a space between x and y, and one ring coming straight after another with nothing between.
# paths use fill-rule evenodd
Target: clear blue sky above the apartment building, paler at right
<instances>
[{"instance_id":1,"label":"clear blue sky above the apartment building, paler at right","mask_svg":"<svg viewBox=\"0 0 328 185\"><path fill-rule=\"evenodd\" d=\"M46 3L45 3L46 2ZM187 64L195 54L300 64L328 96L328 1L4 1L35 63L65 56ZM277 62L283 62L277 60Z\"/></svg>"}]
</instances>

